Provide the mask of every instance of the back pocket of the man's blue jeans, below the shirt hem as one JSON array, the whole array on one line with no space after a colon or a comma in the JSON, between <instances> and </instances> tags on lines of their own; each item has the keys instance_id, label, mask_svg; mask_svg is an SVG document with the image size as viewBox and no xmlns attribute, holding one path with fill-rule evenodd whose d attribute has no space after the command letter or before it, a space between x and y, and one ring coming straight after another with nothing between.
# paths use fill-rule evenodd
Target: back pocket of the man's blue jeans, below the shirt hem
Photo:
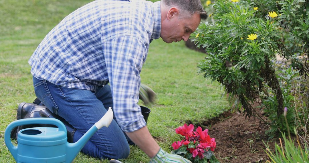
<instances>
[{"instance_id":1,"label":"back pocket of the man's blue jeans, below the shirt hem","mask_svg":"<svg viewBox=\"0 0 309 163\"><path fill-rule=\"evenodd\" d=\"M38 81L38 79L36 81ZM39 98L50 111L57 114L58 106L49 92L46 80L41 80L37 83L34 82L33 87L36 97Z\"/></svg>"}]
</instances>

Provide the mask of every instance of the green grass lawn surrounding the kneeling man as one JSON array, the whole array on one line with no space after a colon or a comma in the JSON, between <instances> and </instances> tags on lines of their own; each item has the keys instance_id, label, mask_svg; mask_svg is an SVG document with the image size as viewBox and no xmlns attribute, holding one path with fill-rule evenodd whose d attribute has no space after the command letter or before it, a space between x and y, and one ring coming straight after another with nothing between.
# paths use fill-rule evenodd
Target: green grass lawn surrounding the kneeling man
<instances>
[{"instance_id":1,"label":"green grass lawn surrounding the kneeling man","mask_svg":"<svg viewBox=\"0 0 309 163\"><path fill-rule=\"evenodd\" d=\"M0 162L14 162L4 143L4 130L15 120L20 102L32 102L35 94L28 59L45 35L66 15L90 1L86 0L0 0ZM142 83L157 93L148 128L166 151L180 140L175 128L185 121L199 123L228 109L217 82L197 75L197 62L203 53L184 46L166 44L161 39L150 44L142 68ZM141 102L142 104L142 102ZM123 162L148 162L138 147L131 146ZM120 149L121 150L121 149ZM108 162L82 153L74 162Z\"/></svg>"}]
</instances>

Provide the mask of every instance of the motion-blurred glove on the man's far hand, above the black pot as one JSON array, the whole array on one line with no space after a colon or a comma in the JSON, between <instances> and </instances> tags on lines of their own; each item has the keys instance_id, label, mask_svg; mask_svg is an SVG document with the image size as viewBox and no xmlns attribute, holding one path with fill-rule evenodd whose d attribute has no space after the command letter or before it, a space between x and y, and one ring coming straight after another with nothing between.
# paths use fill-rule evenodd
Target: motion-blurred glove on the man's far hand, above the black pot
<instances>
[{"instance_id":1,"label":"motion-blurred glove on the man's far hand, above the black pot","mask_svg":"<svg viewBox=\"0 0 309 163\"><path fill-rule=\"evenodd\" d=\"M149 88L149 86L141 83L139 88L139 98L144 102L145 105L155 102L156 96L157 94L151 88Z\"/></svg>"}]
</instances>

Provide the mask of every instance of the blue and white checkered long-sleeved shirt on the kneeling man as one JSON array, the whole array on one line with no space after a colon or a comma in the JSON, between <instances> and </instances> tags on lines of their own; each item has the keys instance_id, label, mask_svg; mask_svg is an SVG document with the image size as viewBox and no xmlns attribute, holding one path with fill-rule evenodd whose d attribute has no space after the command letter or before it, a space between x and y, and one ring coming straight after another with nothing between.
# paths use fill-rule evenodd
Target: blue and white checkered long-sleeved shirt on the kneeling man
<instances>
[{"instance_id":1,"label":"blue and white checkered long-sleeved shirt on the kneeling man","mask_svg":"<svg viewBox=\"0 0 309 163\"><path fill-rule=\"evenodd\" d=\"M160 2L97 0L64 18L28 62L34 77L67 88L95 91L109 81L117 122L133 132L146 126L140 72L160 32Z\"/></svg>"}]
</instances>

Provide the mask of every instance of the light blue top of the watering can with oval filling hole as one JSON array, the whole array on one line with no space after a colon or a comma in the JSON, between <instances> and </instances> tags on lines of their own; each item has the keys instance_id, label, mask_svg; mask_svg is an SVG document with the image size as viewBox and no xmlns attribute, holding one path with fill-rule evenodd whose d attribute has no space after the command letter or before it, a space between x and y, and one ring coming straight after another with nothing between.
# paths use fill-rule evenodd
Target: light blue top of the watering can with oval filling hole
<instances>
[{"instance_id":1,"label":"light blue top of the watering can with oval filling hole","mask_svg":"<svg viewBox=\"0 0 309 163\"><path fill-rule=\"evenodd\" d=\"M18 132L18 143L26 142L66 142L67 135L57 127L33 127Z\"/></svg>"}]
</instances>

